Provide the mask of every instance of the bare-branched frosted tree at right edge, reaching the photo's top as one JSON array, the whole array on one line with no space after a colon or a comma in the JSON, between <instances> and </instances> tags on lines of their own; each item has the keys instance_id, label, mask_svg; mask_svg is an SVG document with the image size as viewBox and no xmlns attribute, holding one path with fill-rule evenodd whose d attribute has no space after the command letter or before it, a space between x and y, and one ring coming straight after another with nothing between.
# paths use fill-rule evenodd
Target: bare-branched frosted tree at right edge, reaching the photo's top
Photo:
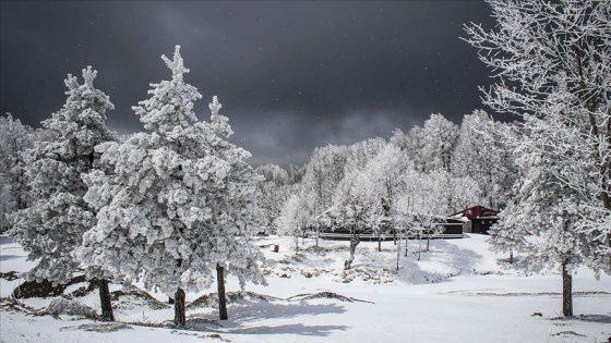
<instances>
[{"instance_id":1,"label":"bare-branched frosted tree at right edge, reaching the photo's top","mask_svg":"<svg viewBox=\"0 0 611 343\"><path fill-rule=\"evenodd\" d=\"M588 212L602 216L583 217L580 223L611 246L611 2L488 3L498 25L466 27L467 41L496 78L483 90L484 103L523 118L558 117L548 123L551 134L535 146L556 161L579 166L580 171L563 170L556 177L596 199L589 201L598 204L596 210ZM594 182L575 182L588 174Z\"/></svg>"}]
</instances>

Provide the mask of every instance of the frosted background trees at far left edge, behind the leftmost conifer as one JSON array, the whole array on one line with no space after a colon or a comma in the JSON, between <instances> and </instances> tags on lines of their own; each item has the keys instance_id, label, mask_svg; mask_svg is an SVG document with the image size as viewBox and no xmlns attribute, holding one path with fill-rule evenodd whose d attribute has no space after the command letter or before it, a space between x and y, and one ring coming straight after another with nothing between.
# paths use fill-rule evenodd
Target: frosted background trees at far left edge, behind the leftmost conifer
<instances>
[{"instance_id":1,"label":"frosted background trees at far left edge, behind the leftmost conifer","mask_svg":"<svg viewBox=\"0 0 611 343\"><path fill-rule=\"evenodd\" d=\"M10 113L0 117L0 232L10 228L8 215L24 209L28 203L22 152L32 148L36 136L32 127L14 120Z\"/></svg>"}]
</instances>

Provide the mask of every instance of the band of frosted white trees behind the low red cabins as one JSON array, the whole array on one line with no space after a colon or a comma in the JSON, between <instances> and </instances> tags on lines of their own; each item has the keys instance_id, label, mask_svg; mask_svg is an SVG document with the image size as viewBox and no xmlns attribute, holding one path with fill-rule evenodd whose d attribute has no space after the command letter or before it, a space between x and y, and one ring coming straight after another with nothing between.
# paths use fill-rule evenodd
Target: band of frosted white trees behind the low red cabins
<instances>
[{"instance_id":1,"label":"band of frosted white trees behind the low red cabins","mask_svg":"<svg viewBox=\"0 0 611 343\"><path fill-rule=\"evenodd\" d=\"M443 217L475 205L500 210L518 175L505 135L518 135L516 127L481 110L460 125L432 114L407 133L396 128L387 142L316 148L302 168L262 166L262 225L274 233L325 222L375 231L388 217Z\"/></svg>"}]
</instances>

